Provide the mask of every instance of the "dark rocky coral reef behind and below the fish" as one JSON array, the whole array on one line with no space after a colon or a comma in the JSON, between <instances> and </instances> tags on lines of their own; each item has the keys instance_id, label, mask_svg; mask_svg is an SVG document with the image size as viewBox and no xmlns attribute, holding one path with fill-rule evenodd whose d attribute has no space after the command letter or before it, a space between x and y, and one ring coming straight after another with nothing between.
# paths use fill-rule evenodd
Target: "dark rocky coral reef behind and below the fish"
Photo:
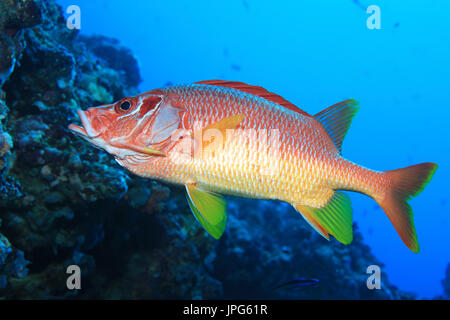
<instances>
[{"instance_id":1,"label":"dark rocky coral reef behind and below the fish","mask_svg":"<svg viewBox=\"0 0 450 320\"><path fill-rule=\"evenodd\" d=\"M385 276L367 289L382 264L357 230L327 242L283 203L230 198L215 241L182 188L129 176L67 130L77 108L137 93L131 52L67 29L52 1L2 1L0 15L0 297L414 298ZM73 264L81 290L66 288ZM294 277L320 284L272 290Z\"/></svg>"}]
</instances>

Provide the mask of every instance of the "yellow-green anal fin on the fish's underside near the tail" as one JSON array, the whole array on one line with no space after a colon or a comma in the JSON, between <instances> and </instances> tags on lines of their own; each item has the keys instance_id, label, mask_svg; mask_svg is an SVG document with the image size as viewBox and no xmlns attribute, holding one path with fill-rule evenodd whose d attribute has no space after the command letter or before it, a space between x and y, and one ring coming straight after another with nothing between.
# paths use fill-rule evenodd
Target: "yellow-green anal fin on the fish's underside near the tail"
<instances>
[{"instance_id":1,"label":"yellow-green anal fin on the fish's underside near the tail","mask_svg":"<svg viewBox=\"0 0 450 320\"><path fill-rule=\"evenodd\" d=\"M350 198L339 191L322 208L293 204L306 221L324 238L330 240L331 234L339 242L349 244L353 240L352 205Z\"/></svg>"}]
</instances>

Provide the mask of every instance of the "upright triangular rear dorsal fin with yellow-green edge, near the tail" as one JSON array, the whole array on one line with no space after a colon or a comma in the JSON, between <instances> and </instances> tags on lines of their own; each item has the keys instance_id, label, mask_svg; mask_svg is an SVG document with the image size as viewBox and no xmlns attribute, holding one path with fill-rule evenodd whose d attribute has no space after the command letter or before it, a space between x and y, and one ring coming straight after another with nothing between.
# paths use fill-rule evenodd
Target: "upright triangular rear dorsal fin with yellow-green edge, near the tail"
<instances>
[{"instance_id":1,"label":"upright triangular rear dorsal fin with yellow-green edge, near the tail","mask_svg":"<svg viewBox=\"0 0 450 320\"><path fill-rule=\"evenodd\" d=\"M348 99L314 115L314 118L322 124L331 140L333 140L339 153L342 151L342 141L345 134L350 128L353 117L358 112L358 104L358 101Z\"/></svg>"}]
</instances>

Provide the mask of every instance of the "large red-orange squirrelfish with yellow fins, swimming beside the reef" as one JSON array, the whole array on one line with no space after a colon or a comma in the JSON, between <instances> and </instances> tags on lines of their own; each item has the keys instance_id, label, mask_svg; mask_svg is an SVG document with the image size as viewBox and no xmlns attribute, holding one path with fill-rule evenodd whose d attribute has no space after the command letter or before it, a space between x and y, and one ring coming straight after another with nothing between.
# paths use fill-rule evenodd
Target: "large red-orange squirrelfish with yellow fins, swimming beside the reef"
<instances>
[{"instance_id":1,"label":"large red-orange squirrelfish with yellow fins, swimming beside the reef","mask_svg":"<svg viewBox=\"0 0 450 320\"><path fill-rule=\"evenodd\" d=\"M437 164L377 171L344 158L358 109L347 99L310 115L263 87L206 80L80 109L81 125L69 129L135 175L184 186L193 215L215 239L225 231L224 196L239 196L290 203L325 239L348 245L352 191L373 198L419 252L408 201Z\"/></svg>"}]
</instances>

